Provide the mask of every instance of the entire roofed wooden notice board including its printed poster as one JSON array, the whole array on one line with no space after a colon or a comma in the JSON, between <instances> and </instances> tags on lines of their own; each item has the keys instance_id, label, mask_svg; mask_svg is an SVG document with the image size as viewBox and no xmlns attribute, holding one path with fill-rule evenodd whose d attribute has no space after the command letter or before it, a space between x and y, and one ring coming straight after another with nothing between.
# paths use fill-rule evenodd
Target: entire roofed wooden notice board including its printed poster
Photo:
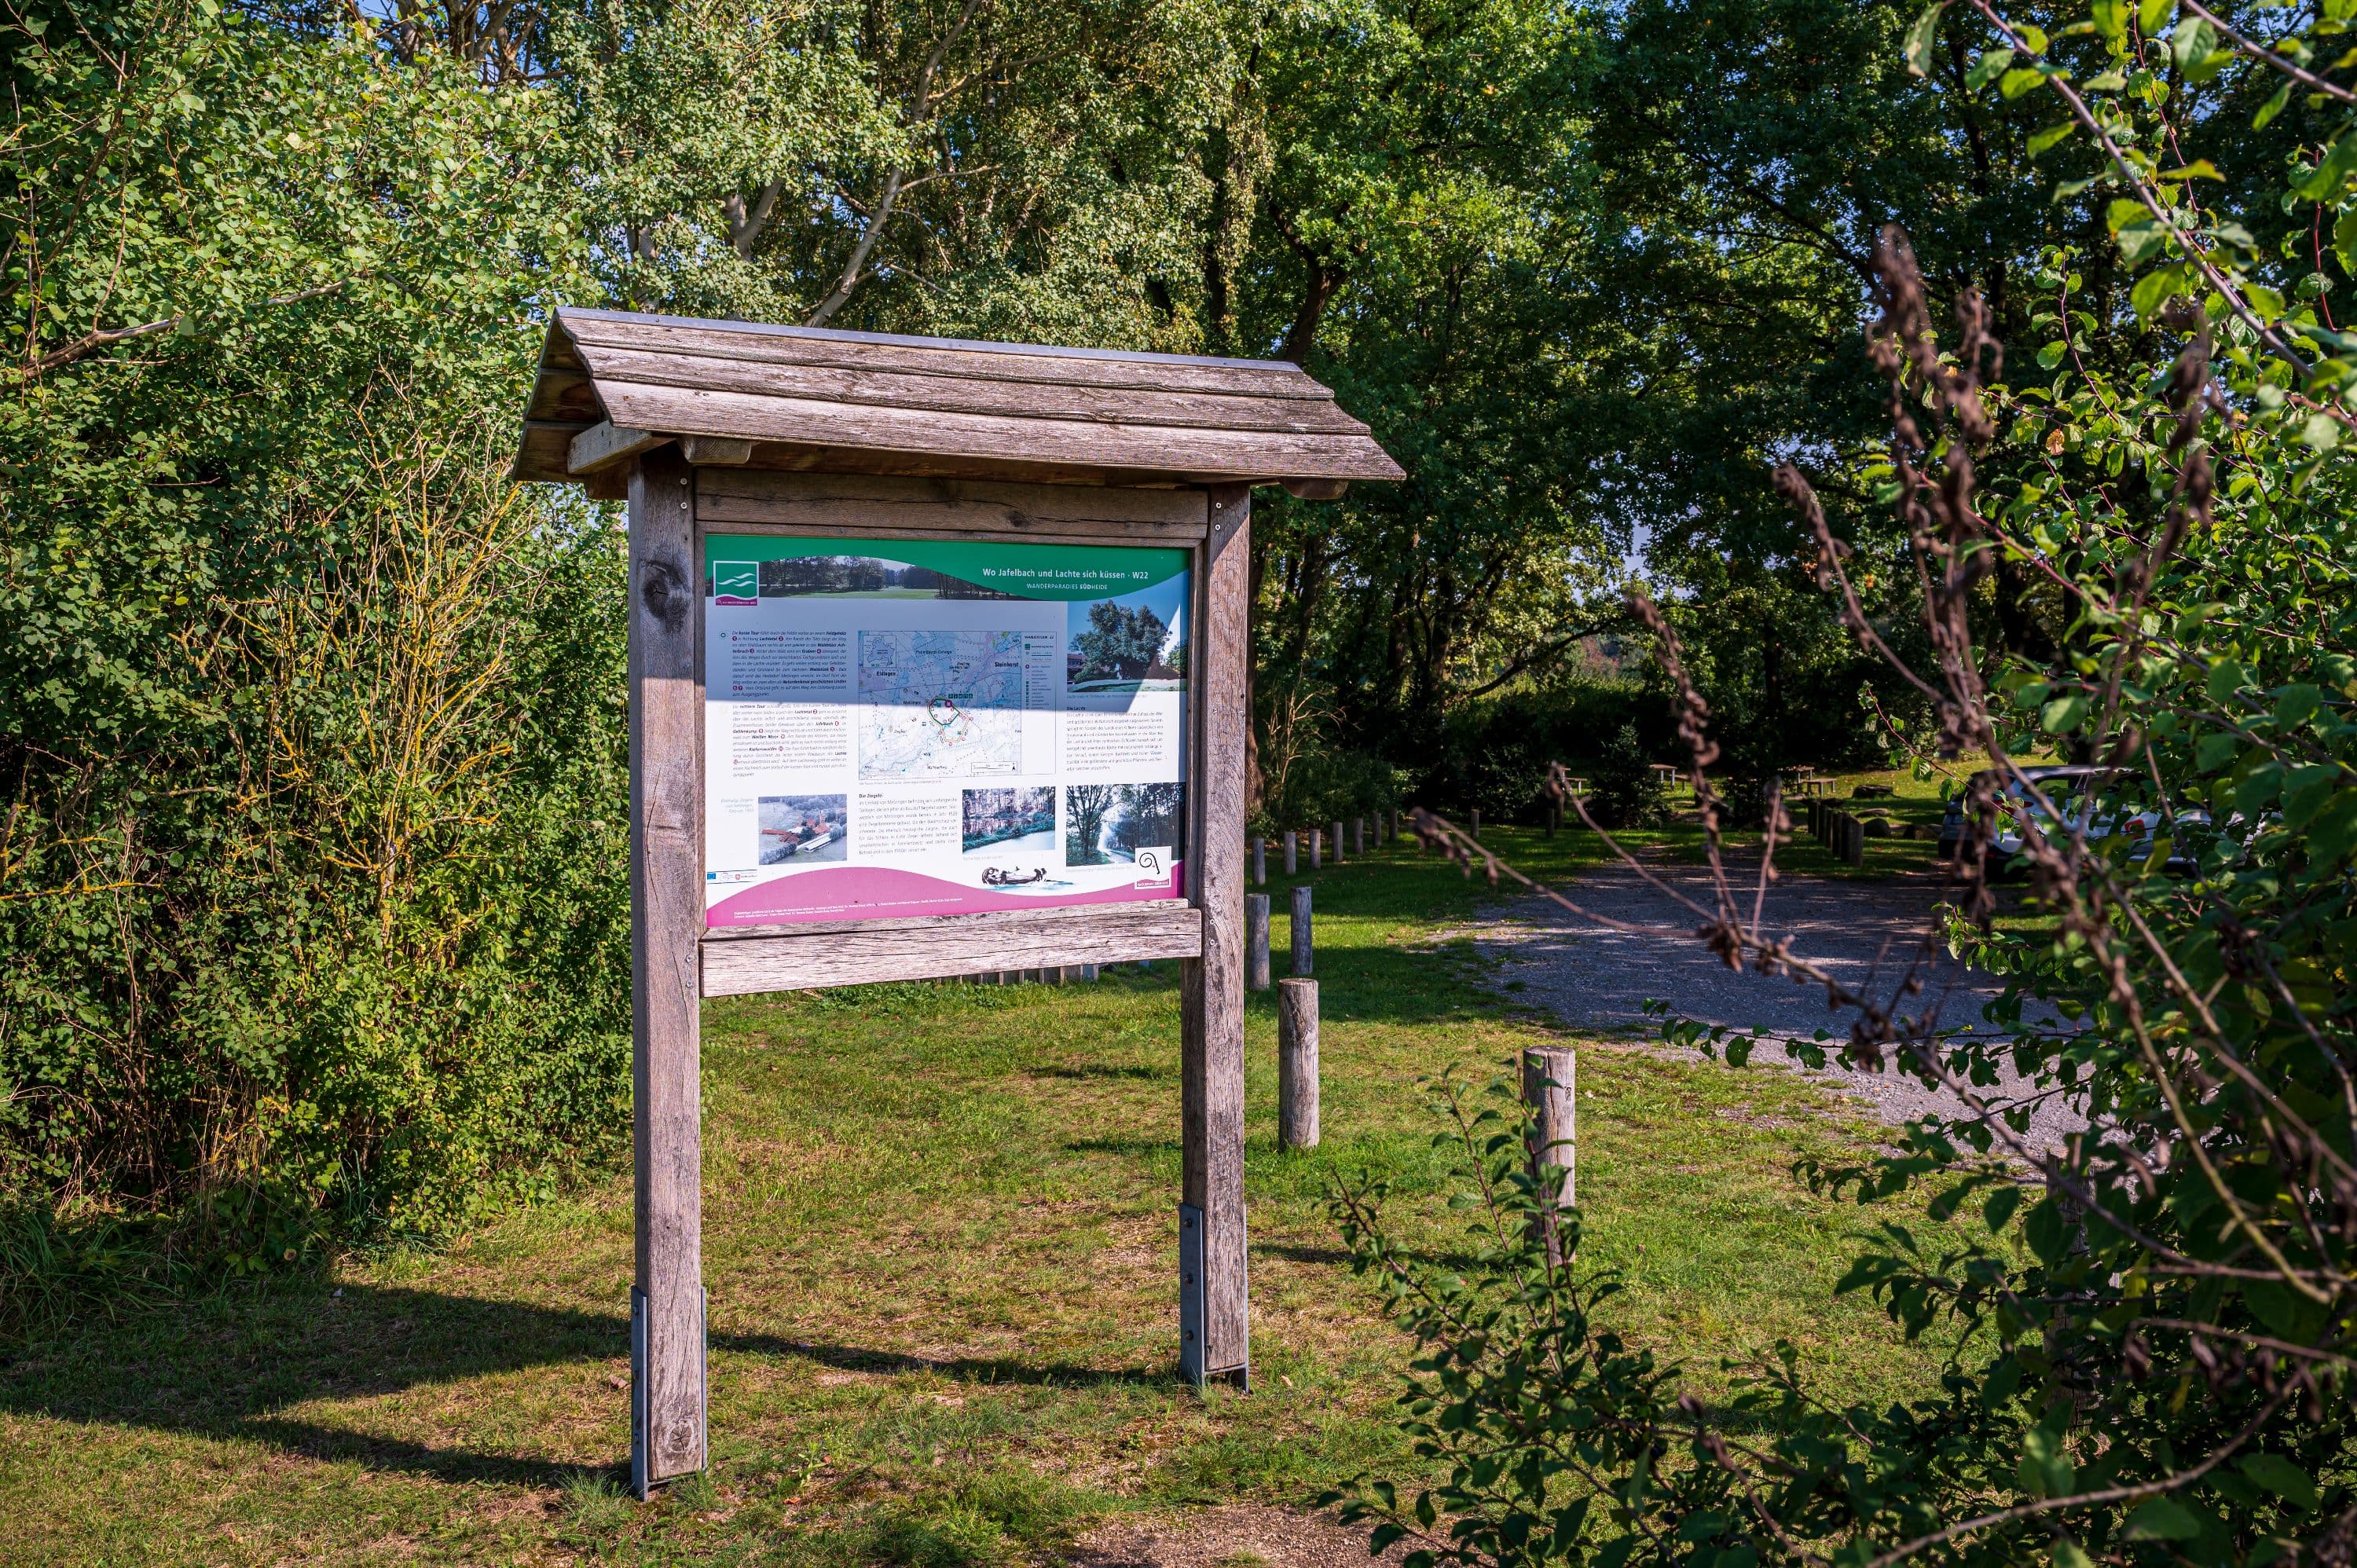
<instances>
[{"instance_id":1,"label":"entire roofed wooden notice board including its printed poster","mask_svg":"<svg viewBox=\"0 0 2357 1568\"><path fill-rule=\"evenodd\" d=\"M1181 960L1178 1356L1244 1382L1252 488L1398 465L1280 361L559 307L514 476L629 502L634 1490L707 1462L702 997Z\"/></svg>"}]
</instances>

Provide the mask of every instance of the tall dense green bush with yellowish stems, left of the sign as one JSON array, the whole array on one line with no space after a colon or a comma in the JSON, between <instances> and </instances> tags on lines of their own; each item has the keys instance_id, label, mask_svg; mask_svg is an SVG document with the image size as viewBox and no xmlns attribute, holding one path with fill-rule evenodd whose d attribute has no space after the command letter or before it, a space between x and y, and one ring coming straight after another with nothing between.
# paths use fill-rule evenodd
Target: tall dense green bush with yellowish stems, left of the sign
<instances>
[{"instance_id":1,"label":"tall dense green bush with yellowish stems, left of the sign","mask_svg":"<svg viewBox=\"0 0 2357 1568\"><path fill-rule=\"evenodd\" d=\"M0 68L0 1191L438 1231L627 1085L618 540L502 481L542 108L210 7Z\"/></svg>"}]
</instances>

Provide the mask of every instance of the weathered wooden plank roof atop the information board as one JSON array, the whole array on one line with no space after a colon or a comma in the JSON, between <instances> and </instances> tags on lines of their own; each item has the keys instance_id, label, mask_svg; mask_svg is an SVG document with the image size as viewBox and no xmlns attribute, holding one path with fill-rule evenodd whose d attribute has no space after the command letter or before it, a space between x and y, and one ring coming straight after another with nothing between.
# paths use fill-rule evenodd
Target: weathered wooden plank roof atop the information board
<instances>
[{"instance_id":1,"label":"weathered wooden plank roof atop the information board","mask_svg":"<svg viewBox=\"0 0 2357 1568\"><path fill-rule=\"evenodd\" d=\"M1068 483L1402 479L1301 365L559 309L516 479L691 460ZM702 455L700 455L702 453Z\"/></svg>"}]
</instances>

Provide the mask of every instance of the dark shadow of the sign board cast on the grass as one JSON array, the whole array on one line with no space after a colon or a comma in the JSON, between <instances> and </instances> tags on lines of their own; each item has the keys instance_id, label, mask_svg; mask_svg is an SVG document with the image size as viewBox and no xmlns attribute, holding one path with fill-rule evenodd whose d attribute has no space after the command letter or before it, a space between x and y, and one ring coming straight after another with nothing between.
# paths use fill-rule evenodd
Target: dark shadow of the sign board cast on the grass
<instances>
[{"instance_id":1,"label":"dark shadow of the sign board cast on the grass","mask_svg":"<svg viewBox=\"0 0 2357 1568\"><path fill-rule=\"evenodd\" d=\"M1018 1358L926 1358L778 1335L709 1337L714 1353L794 1358L832 1370L1035 1386L1162 1386L1169 1368L1084 1368ZM368 1401L526 1368L594 1365L620 1384L629 1318L528 1302L276 1280L238 1292L87 1323L0 1346L0 1410L75 1424L144 1427L214 1441L266 1443L325 1462L408 1471L450 1483L563 1488L613 1467L528 1452L434 1445L368 1429L370 1410L311 1419L313 1401ZM620 1412L627 1384L603 1394ZM344 1419L354 1424L342 1424ZM627 1455L615 1455L622 1464Z\"/></svg>"}]
</instances>

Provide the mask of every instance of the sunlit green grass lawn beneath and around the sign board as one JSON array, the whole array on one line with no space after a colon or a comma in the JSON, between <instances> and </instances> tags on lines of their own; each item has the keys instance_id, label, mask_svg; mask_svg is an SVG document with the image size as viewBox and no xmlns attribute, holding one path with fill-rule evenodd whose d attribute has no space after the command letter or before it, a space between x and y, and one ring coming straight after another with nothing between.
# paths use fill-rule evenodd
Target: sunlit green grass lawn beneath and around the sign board
<instances>
[{"instance_id":1,"label":"sunlit green grass lawn beneath and around the sign board","mask_svg":"<svg viewBox=\"0 0 2357 1568\"><path fill-rule=\"evenodd\" d=\"M1553 875L1598 854L1490 837ZM1124 1514L1414 1474L1388 1427L1405 1346L1336 1252L1325 1184L1388 1174L1445 1257L1464 1217L1414 1082L1556 1035L1447 941L1487 889L1398 846L1315 884L1322 1148L1275 1148L1268 997L1247 1023L1249 1396L1174 1382L1176 964L731 1000L705 1012L709 1478L620 1497L618 1170L443 1252L0 1346L0 1561L969 1568ZM1704 1379L1789 1337L1843 1394L1926 1386L1935 1351L1831 1299L1860 1212L1789 1177L1871 1129L1765 1068L1629 1045L1579 1066L1589 1257L1626 1273L1624 1332Z\"/></svg>"}]
</instances>

